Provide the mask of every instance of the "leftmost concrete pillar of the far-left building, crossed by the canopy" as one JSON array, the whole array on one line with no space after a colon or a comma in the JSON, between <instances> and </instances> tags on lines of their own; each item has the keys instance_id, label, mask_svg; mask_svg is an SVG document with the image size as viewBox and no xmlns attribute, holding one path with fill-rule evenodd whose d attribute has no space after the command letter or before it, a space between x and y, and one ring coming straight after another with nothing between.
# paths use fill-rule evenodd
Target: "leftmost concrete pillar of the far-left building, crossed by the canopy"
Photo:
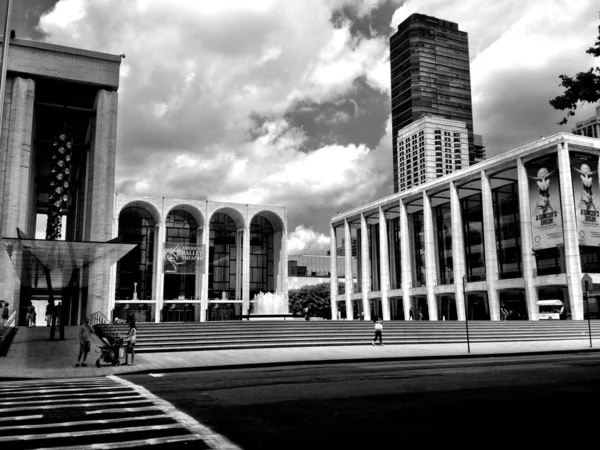
<instances>
[{"instance_id":1,"label":"leftmost concrete pillar of the far-left building, crossed by the canopy","mask_svg":"<svg viewBox=\"0 0 600 450\"><path fill-rule=\"evenodd\" d=\"M33 80L7 79L0 143L0 236L3 237L17 237L17 227L31 237L35 234L30 228L36 200L31 151L34 98ZM18 324L21 283L4 246L0 250L0 292L9 299L10 309L17 311Z\"/></svg>"}]
</instances>

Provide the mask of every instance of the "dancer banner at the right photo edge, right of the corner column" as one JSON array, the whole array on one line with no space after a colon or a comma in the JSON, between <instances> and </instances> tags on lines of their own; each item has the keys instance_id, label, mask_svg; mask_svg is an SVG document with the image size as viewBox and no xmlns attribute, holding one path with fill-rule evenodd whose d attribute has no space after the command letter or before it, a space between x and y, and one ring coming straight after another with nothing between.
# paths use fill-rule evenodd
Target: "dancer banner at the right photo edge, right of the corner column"
<instances>
[{"instance_id":1,"label":"dancer banner at the right photo edge, right of the corner column","mask_svg":"<svg viewBox=\"0 0 600 450\"><path fill-rule=\"evenodd\" d=\"M598 180L598 157L570 152L575 217L579 245L600 245L600 212L594 199Z\"/></svg>"}]
</instances>

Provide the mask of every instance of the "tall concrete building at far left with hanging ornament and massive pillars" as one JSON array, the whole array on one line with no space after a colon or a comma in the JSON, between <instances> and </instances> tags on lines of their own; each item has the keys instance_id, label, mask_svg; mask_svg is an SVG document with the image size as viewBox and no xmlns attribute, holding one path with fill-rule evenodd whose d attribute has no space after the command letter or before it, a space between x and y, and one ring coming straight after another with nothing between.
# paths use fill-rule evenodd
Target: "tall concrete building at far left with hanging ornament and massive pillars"
<instances>
[{"instance_id":1,"label":"tall concrete building at far left with hanging ornament and massive pillars","mask_svg":"<svg viewBox=\"0 0 600 450\"><path fill-rule=\"evenodd\" d=\"M95 271L90 258L111 248L109 261L118 248L125 251L98 244L112 237L121 58L10 39L6 63L0 236L8 251L3 246L0 252L0 291L21 324L30 301L43 317L51 292L63 301L63 320L79 323L101 308L108 285L108 273ZM98 245L32 243L27 237L46 215L58 218L59 229L49 227L49 233L60 232L62 217L67 240Z\"/></svg>"}]
</instances>

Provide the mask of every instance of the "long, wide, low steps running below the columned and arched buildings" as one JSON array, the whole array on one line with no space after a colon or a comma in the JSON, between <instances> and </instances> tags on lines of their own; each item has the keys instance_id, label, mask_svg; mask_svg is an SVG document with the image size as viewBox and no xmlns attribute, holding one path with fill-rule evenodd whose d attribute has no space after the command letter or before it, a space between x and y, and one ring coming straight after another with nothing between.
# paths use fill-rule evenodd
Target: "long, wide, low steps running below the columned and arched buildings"
<instances>
[{"instance_id":1,"label":"long, wide, low steps running below the columned and arched buildings","mask_svg":"<svg viewBox=\"0 0 600 450\"><path fill-rule=\"evenodd\" d=\"M115 325L127 334L127 325ZM231 321L139 323L136 353L250 348L370 345L369 321ZM592 321L600 337L600 321ZM466 343L464 322L385 322L386 345ZM587 321L469 321L470 342L518 342L588 339Z\"/></svg>"}]
</instances>

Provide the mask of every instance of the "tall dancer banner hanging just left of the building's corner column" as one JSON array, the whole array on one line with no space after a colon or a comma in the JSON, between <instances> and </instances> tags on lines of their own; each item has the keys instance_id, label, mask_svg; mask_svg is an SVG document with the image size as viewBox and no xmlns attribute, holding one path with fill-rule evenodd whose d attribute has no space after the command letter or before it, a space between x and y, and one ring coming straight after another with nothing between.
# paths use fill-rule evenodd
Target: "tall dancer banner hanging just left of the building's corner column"
<instances>
[{"instance_id":1,"label":"tall dancer banner hanging just left of the building's corner column","mask_svg":"<svg viewBox=\"0 0 600 450\"><path fill-rule=\"evenodd\" d=\"M563 243L556 154L528 162L525 170L529 179L533 249L555 248Z\"/></svg>"}]
</instances>

